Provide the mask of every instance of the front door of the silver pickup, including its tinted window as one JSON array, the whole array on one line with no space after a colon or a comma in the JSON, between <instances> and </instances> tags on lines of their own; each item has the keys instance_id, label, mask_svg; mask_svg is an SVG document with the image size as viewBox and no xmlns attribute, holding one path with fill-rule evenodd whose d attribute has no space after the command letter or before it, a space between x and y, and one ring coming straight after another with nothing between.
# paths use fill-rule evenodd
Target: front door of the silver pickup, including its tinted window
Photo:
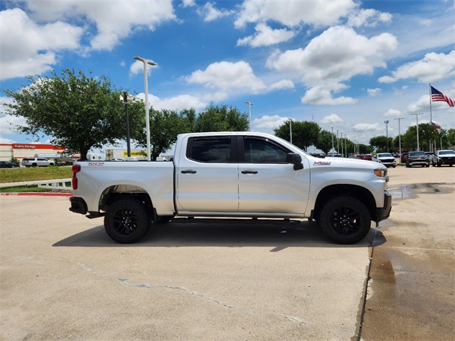
<instances>
[{"instance_id":1,"label":"front door of the silver pickup, including its tinted window","mask_svg":"<svg viewBox=\"0 0 455 341\"><path fill-rule=\"evenodd\" d=\"M279 215L306 210L309 167L295 171L284 146L264 137L239 136L239 212Z\"/></svg>"}]
</instances>

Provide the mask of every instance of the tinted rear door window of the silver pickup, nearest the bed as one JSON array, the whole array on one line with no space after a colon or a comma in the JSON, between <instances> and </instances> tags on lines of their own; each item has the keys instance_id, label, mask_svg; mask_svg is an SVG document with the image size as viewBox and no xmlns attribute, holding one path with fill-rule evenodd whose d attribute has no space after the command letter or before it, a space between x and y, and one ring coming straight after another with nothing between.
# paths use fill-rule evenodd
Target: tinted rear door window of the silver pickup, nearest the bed
<instances>
[{"instance_id":1,"label":"tinted rear door window of the silver pickup, nearest the bed","mask_svg":"<svg viewBox=\"0 0 455 341\"><path fill-rule=\"evenodd\" d=\"M194 161L209 163L230 162L230 136L193 137L186 156Z\"/></svg>"}]
</instances>

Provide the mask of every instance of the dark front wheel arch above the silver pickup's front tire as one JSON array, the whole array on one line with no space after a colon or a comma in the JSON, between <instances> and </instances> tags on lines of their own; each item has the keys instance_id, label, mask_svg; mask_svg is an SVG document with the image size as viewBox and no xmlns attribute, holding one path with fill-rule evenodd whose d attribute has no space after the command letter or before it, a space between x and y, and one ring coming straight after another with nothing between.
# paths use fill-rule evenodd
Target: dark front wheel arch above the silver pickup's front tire
<instances>
[{"instance_id":1,"label":"dark front wheel arch above the silver pickup's front tire","mask_svg":"<svg viewBox=\"0 0 455 341\"><path fill-rule=\"evenodd\" d=\"M371 220L376 220L376 202L373 194L366 188L349 184L328 185L326 188L323 188L316 198L311 217L314 220L319 220L323 205L333 197L339 197L341 195L349 195L363 202L370 212Z\"/></svg>"}]
</instances>

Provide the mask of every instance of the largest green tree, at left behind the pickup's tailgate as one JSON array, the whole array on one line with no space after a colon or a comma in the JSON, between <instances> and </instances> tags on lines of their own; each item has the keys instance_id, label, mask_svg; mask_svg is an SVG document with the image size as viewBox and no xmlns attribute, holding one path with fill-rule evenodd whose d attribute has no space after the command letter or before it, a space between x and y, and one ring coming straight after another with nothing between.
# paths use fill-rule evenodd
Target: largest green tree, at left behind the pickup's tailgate
<instances>
[{"instance_id":1,"label":"largest green tree, at left behind the pickup's tailgate","mask_svg":"<svg viewBox=\"0 0 455 341\"><path fill-rule=\"evenodd\" d=\"M52 144L80 153L82 160L90 148L116 144L126 135L124 107L119 101L122 90L108 77L87 77L82 71L66 69L61 75L53 71L50 77L27 79L27 87L5 91L14 99L4 104L6 112L26 119L16 131L34 137L52 136ZM137 114L132 106L132 126Z\"/></svg>"}]
</instances>

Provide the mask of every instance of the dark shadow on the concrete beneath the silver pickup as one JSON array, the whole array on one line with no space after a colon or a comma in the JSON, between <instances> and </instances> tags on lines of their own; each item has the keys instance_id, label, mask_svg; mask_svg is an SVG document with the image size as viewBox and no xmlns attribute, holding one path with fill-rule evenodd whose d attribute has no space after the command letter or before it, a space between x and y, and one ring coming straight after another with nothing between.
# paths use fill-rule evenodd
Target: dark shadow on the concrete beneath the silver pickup
<instances>
[{"instance_id":1,"label":"dark shadow on the concrete beneath the silver pickup","mask_svg":"<svg viewBox=\"0 0 455 341\"><path fill-rule=\"evenodd\" d=\"M358 244L330 242L317 222L299 220L184 219L155 224L136 244L117 244L103 226L97 226L60 240L53 247L368 247L385 243L378 229L370 229Z\"/></svg>"}]
</instances>

